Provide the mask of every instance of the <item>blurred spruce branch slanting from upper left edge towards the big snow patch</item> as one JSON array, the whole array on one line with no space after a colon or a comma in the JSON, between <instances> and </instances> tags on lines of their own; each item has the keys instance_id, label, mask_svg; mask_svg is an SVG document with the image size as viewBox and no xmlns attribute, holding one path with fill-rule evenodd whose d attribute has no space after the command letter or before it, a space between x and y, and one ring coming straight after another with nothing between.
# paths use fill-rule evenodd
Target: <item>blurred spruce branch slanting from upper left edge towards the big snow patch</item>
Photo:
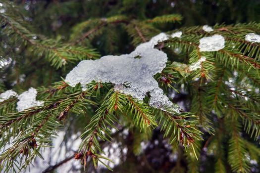
<instances>
[{"instance_id":1,"label":"blurred spruce branch slanting from upper left edge towards the big snow patch","mask_svg":"<svg viewBox=\"0 0 260 173\"><path fill-rule=\"evenodd\" d=\"M58 43L57 41L51 39L43 41L36 40L37 36L35 34L31 34L26 28L13 20L11 17L1 13L0 18L2 18L0 25L4 26L3 31L7 35L12 36L13 33L16 33L20 36L18 38L22 38L25 42L33 45L31 49L32 52L35 52L36 55L44 54L45 58L52 63L52 66L56 68L60 68L68 62L86 59L86 57L99 57L99 54L95 52L94 49ZM10 28L7 28L6 25L9 25Z\"/></svg>"}]
</instances>

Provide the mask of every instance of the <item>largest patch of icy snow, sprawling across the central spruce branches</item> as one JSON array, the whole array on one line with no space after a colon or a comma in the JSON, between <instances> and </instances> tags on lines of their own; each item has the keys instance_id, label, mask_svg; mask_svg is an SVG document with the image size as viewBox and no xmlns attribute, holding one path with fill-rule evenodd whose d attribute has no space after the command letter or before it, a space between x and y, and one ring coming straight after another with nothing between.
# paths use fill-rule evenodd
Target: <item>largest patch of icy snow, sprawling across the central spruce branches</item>
<instances>
[{"instance_id":1,"label":"largest patch of icy snow, sprawling across the central spruce branches","mask_svg":"<svg viewBox=\"0 0 260 173\"><path fill-rule=\"evenodd\" d=\"M151 92L150 106L179 113L179 107L171 103L154 79L166 67L167 55L154 46L168 39L164 33L142 43L130 54L103 56L98 60L83 60L70 71L65 81L72 87L78 83L83 89L92 81L115 84L114 89L132 95L139 101ZM135 58L140 56L141 58ZM127 87L125 84L128 84Z\"/></svg>"}]
</instances>

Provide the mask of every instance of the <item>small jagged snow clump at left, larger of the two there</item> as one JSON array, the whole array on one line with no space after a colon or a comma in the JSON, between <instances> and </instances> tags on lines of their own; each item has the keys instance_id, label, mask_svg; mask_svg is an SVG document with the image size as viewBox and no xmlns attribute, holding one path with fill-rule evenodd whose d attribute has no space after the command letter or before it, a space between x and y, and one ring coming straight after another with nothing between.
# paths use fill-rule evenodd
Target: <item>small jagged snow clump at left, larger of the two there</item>
<instances>
[{"instance_id":1,"label":"small jagged snow clump at left, larger of the two there","mask_svg":"<svg viewBox=\"0 0 260 173\"><path fill-rule=\"evenodd\" d=\"M28 91L24 91L18 96L19 101L16 109L20 112L31 107L43 106L44 101L36 100L36 96L37 90L33 87L29 88Z\"/></svg>"}]
</instances>

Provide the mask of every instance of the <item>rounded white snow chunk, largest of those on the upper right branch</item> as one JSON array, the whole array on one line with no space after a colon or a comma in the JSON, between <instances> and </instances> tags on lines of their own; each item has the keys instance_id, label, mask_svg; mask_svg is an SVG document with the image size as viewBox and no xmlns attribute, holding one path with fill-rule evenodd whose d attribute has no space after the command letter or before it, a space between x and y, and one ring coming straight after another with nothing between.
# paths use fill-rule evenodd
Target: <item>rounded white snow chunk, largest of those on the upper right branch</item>
<instances>
[{"instance_id":1,"label":"rounded white snow chunk, largest of those on the upper right branch","mask_svg":"<svg viewBox=\"0 0 260 173\"><path fill-rule=\"evenodd\" d=\"M200 51L218 51L225 47L225 39L221 35L213 35L200 39Z\"/></svg>"}]
</instances>

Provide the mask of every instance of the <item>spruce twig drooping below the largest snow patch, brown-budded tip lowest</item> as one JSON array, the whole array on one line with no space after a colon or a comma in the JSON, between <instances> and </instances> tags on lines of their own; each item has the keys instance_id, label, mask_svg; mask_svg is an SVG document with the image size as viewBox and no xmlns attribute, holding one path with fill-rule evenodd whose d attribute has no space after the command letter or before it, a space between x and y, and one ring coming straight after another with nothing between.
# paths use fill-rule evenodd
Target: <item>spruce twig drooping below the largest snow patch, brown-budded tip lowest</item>
<instances>
[{"instance_id":1,"label":"spruce twig drooping below the largest snow patch, brown-budded tip lowest","mask_svg":"<svg viewBox=\"0 0 260 173\"><path fill-rule=\"evenodd\" d=\"M111 92L112 90L108 92L104 102L97 110L97 114L91 119L89 125L85 128L86 131L81 135L83 141L80 145L79 153L81 153L80 159L83 162L84 168L86 167L86 160L89 156L93 159L95 167L97 167L99 161L104 164L100 159L109 160L108 158L98 154L98 152L103 152L98 137L103 141L110 141L110 128L117 130L113 125L114 122L117 122L114 113L116 113L117 110L122 111L123 108L123 99L121 94L117 91L113 93ZM107 165L104 164L104 166L111 170Z\"/></svg>"}]
</instances>

